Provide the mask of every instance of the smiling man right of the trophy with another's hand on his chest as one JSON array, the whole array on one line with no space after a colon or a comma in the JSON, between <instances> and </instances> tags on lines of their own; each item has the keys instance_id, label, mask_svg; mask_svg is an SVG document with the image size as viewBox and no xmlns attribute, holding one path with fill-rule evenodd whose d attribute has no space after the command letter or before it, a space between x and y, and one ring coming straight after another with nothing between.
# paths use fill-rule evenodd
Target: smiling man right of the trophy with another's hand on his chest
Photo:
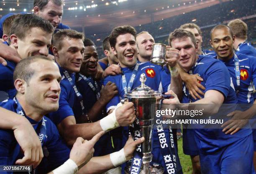
<instances>
[{"instance_id":1,"label":"smiling man right of the trophy with another's hand on his chest","mask_svg":"<svg viewBox=\"0 0 256 174\"><path fill-rule=\"evenodd\" d=\"M218 36L220 32L215 34ZM223 40L220 42L223 43ZM189 74L200 75L203 78L201 83L205 86L205 95L202 96L202 99L193 99L184 84L182 103L216 104L214 108L211 108L212 111L214 109L218 111L220 109L218 105L222 103L237 103L236 93L231 86L227 67L214 58L198 56L197 41L191 32L181 29L174 30L169 35L169 44L180 52L177 60L180 67ZM226 55L228 50L232 51L228 47L222 47L220 51L222 55ZM164 103L179 102L178 100L166 99ZM212 117L215 116L212 115ZM204 125L197 127L202 127L202 129L194 130L203 174L253 173L251 129L241 129L236 135L230 135L225 134L222 129L204 129Z\"/></svg>"}]
</instances>

